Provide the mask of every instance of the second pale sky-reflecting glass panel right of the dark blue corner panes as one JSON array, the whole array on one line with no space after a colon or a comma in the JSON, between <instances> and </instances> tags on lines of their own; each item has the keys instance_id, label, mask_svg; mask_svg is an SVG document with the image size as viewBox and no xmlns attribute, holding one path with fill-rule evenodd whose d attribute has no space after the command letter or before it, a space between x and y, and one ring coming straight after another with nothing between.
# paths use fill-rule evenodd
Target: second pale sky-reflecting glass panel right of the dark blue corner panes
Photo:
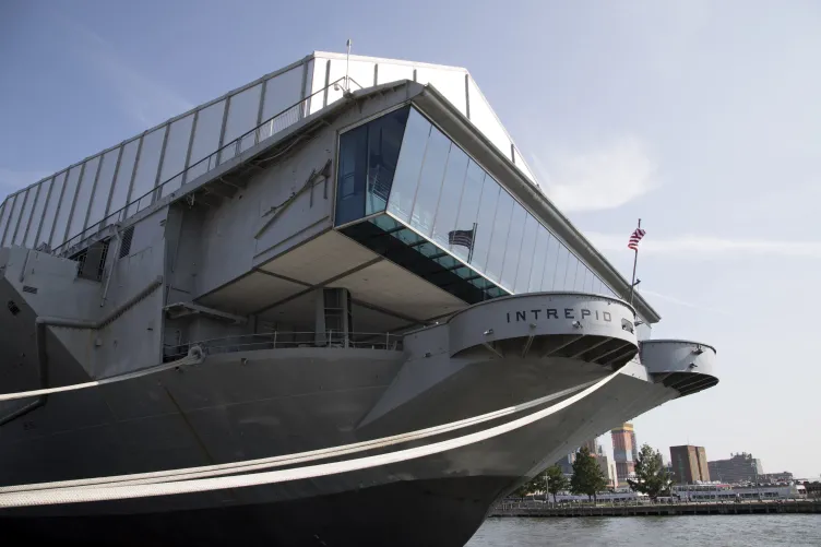
<instances>
[{"instance_id":1,"label":"second pale sky-reflecting glass panel right of the dark blue corner panes","mask_svg":"<svg viewBox=\"0 0 821 547\"><path fill-rule=\"evenodd\" d=\"M430 237L433 230L433 217L451 145L451 140L444 133L437 128L430 130L428 148L419 174L419 188L416 190L414 212L410 215L410 226L427 237Z\"/></svg>"}]
</instances>

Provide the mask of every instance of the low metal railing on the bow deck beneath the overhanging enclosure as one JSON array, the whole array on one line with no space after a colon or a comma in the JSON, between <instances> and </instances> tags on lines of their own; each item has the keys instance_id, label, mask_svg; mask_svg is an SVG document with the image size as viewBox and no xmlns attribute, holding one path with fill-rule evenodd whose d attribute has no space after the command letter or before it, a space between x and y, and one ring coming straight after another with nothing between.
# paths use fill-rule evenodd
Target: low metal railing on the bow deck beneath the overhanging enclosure
<instances>
[{"instance_id":1,"label":"low metal railing on the bow deck beneath the overhanging enclosure","mask_svg":"<svg viewBox=\"0 0 821 547\"><path fill-rule=\"evenodd\" d=\"M257 352L260 349L281 348L354 348L354 349L389 349L401 352L404 335L382 333L348 333L338 331L322 332L269 332L262 334L239 334L221 338L165 344L164 359L175 360L188 355L191 346L200 346L206 355L218 355L236 352Z\"/></svg>"}]
</instances>

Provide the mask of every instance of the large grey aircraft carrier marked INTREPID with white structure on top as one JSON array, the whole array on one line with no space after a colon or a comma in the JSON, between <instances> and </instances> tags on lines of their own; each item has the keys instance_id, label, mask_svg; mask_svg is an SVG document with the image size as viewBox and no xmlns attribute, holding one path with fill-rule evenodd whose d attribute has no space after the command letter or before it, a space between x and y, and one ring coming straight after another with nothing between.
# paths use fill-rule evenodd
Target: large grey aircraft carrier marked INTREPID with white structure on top
<instances>
[{"instance_id":1,"label":"large grey aircraft carrier marked INTREPID with white structure on top","mask_svg":"<svg viewBox=\"0 0 821 547\"><path fill-rule=\"evenodd\" d=\"M0 530L464 545L717 383L630 293L466 70L311 53L0 205Z\"/></svg>"}]
</instances>

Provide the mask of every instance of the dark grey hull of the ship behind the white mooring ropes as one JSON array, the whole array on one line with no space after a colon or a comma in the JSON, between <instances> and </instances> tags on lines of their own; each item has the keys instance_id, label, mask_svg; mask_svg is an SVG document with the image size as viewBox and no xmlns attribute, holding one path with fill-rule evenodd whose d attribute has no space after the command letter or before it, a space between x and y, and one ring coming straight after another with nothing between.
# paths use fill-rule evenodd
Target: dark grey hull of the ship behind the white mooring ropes
<instances>
[{"instance_id":1,"label":"dark grey hull of the ship behind the white mooring ropes","mask_svg":"<svg viewBox=\"0 0 821 547\"><path fill-rule=\"evenodd\" d=\"M277 358L265 358L258 353L241 366L238 355L98 390L52 395L38 411L43 429L50 426L38 437L22 431L15 438L11 428L1 431L2 481L31 484L198 467L439 425L429 423L438 415L429 408L416 419L409 417L413 413L400 413L403 430L390 431L391 420L385 418L357 427L384 395L400 364L390 352L362 350L361 356L344 352L345 357L340 352L325 360L288 358L283 352ZM334 374L342 369L345 374ZM527 369L531 374L524 372ZM522 477L585 438L677 396L674 390L647 381L641 366L630 364L622 370L567 408L481 442L424 457L245 488L12 508L0 511L0 525L21 538L55 539L49 534L57 533L62 542L85 545L226 545L238 539L252 545L383 545L385 538L394 545L462 545L493 501ZM572 396L551 399L549 393L561 388L578 395L574 385L588 385L607 373L600 367L562 359L539 367L523 365L521 380L530 384L519 402L538 399L533 395L539 392L547 402L332 461L430 445L533 416ZM384 380L380 383L380 379ZM288 389L277 388L283 384ZM429 396L427 403L433 399ZM464 418L505 406L501 399L490 399L465 397L461 405L442 407L441 415ZM460 406L463 409L454 413ZM84 427L66 427L79 423Z\"/></svg>"}]
</instances>

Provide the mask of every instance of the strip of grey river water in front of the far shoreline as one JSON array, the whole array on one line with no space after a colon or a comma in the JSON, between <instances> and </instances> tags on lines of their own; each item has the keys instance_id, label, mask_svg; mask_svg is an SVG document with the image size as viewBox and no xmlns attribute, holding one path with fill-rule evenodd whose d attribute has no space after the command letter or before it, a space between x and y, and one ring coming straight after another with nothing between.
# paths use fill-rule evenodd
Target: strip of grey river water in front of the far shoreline
<instances>
[{"instance_id":1,"label":"strip of grey river water in front of the far shoreline","mask_svg":"<svg viewBox=\"0 0 821 547\"><path fill-rule=\"evenodd\" d=\"M466 547L821 546L821 515L488 519Z\"/></svg>"}]
</instances>

